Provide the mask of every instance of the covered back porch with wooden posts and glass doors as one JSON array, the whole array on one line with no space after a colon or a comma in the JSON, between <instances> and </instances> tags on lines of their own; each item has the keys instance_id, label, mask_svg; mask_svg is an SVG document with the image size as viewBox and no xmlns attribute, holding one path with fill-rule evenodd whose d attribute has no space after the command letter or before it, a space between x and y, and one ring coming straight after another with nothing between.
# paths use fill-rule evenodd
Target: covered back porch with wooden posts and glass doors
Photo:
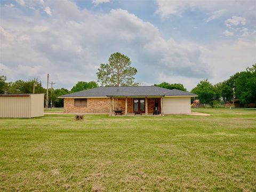
<instances>
[{"instance_id":1,"label":"covered back porch with wooden posts and glass doors","mask_svg":"<svg viewBox=\"0 0 256 192\"><path fill-rule=\"evenodd\" d=\"M163 97L110 97L109 115L163 115Z\"/></svg>"}]
</instances>

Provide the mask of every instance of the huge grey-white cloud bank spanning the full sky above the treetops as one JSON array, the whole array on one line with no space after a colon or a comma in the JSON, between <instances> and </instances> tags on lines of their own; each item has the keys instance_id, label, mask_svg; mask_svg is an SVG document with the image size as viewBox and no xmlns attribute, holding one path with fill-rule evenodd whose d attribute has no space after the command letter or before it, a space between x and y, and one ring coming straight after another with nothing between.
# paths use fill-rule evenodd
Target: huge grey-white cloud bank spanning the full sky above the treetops
<instances>
[{"instance_id":1,"label":"huge grey-white cloud bank spanning the full sky above the treetops","mask_svg":"<svg viewBox=\"0 0 256 192\"><path fill-rule=\"evenodd\" d=\"M9 81L38 77L45 84L50 73L56 87L70 89L77 81L97 80L100 63L118 51L138 69L136 81L154 84L169 79L191 89L203 78L221 81L233 65L237 70L237 65L248 66L255 59L253 41L212 47L180 43L164 39L150 22L122 9L95 14L80 10L74 2L47 2L47 6L52 13L47 19L20 12L10 19L3 14L1 62ZM239 58L233 61L234 53Z\"/></svg>"}]
</instances>

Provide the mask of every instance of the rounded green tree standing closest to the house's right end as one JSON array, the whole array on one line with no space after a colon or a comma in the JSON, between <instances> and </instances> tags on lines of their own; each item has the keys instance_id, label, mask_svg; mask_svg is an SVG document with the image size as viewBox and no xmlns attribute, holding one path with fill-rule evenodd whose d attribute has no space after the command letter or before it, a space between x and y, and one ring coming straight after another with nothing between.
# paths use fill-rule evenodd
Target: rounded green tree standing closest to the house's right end
<instances>
[{"instance_id":1,"label":"rounded green tree standing closest to the house's right end","mask_svg":"<svg viewBox=\"0 0 256 192\"><path fill-rule=\"evenodd\" d=\"M191 92L198 95L198 99L202 104L212 104L213 100L218 99L215 97L216 94L213 85L208 81L208 79L204 79L198 83Z\"/></svg>"}]
</instances>

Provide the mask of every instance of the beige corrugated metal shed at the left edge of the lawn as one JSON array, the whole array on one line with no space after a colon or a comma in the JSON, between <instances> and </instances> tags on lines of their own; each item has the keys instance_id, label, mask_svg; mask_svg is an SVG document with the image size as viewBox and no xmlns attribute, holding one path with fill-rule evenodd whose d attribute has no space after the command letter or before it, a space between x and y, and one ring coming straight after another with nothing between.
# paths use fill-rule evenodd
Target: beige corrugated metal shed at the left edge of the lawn
<instances>
[{"instance_id":1,"label":"beige corrugated metal shed at the left edge of the lawn","mask_svg":"<svg viewBox=\"0 0 256 192\"><path fill-rule=\"evenodd\" d=\"M0 117L44 116L44 94L0 94Z\"/></svg>"}]
</instances>

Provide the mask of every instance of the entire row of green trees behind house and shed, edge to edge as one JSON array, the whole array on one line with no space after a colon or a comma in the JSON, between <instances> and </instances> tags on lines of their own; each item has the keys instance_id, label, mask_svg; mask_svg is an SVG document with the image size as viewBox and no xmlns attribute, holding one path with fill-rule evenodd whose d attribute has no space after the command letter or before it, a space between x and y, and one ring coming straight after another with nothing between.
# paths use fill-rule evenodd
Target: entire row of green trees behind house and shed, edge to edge
<instances>
[{"instance_id":1,"label":"entire row of green trees behind house and shed, edge to edge","mask_svg":"<svg viewBox=\"0 0 256 192\"><path fill-rule=\"evenodd\" d=\"M77 82L69 91L65 88L51 89L49 91L49 102L52 99L54 107L63 107L63 99L58 98L60 95L83 91L101 86L138 86L139 83L134 82L134 75L137 69L131 67L130 58L121 53L111 54L108 63L102 63L96 74L98 82ZM6 76L0 76L0 93L46 93L46 89L42 86L41 81L37 78L28 81L17 80L15 82L6 82ZM166 89L178 89L187 91L180 83L154 84L155 86ZM199 82L196 87L191 90L192 93L198 95L201 104L213 105L214 102L226 102L233 99L239 99L241 103L247 105L250 102L256 102L256 63L252 67L247 67L245 71L238 72L229 77L226 81L211 84L208 79Z\"/></svg>"}]
</instances>

